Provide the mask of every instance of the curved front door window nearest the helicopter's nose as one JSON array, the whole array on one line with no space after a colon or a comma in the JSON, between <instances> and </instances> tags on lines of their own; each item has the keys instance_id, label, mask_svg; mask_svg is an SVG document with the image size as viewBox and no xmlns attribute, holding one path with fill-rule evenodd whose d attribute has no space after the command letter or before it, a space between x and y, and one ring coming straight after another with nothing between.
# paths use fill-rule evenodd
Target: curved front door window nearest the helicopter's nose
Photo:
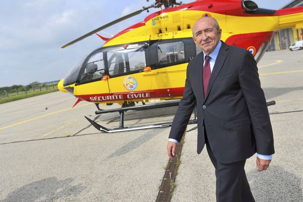
<instances>
[{"instance_id":1,"label":"curved front door window nearest the helicopter's nose","mask_svg":"<svg viewBox=\"0 0 303 202\"><path fill-rule=\"evenodd\" d=\"M103 52L92 55L85 64L84 71L81 75L81 81L91 81L104 76Z\"/></svg>"}]
</instances>

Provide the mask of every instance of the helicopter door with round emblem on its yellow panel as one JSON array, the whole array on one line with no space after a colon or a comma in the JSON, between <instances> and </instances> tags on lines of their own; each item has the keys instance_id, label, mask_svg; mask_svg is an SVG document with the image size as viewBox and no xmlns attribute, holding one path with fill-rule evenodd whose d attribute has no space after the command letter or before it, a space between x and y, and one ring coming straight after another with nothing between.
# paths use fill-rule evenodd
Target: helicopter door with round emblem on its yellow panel
<instances>
[{"instance_id":1,"label":"helicopter door with round emblem on its yellow panel","mask_svg":"<svg viewBox=\"0 0 303 202\"><path fill-rule=\"evenodd\" d=\"M128 92L150 90L150 76L142 72L146 67L145 46L145 43L129 44L108 49L108 81L112 94L124 94L124 99L132 100L142 98L143 94L138 92L138 95L129 95Z\"/></svg>"}]
</instances>

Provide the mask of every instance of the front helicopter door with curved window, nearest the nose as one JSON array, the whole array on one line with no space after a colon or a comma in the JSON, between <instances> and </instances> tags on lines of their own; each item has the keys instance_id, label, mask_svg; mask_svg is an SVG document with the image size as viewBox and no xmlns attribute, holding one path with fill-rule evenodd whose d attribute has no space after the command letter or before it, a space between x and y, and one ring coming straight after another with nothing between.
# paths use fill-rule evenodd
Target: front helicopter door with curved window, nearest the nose
<instances>
[{"instance_id":1,"label":"front helicopter door with curved window, nearest the nose","mask_svg":"<svg viewBox=\"0 0 303 202\"><path fill-rule=\"evenodd\" d=\"M75 95L80 95L86 100L102 102L102 97L109 94L107 80L102 80L105 75L104 53L102 50L93 52L83 64L79 85L75 86Z\"/></svg>"}]
</instances>

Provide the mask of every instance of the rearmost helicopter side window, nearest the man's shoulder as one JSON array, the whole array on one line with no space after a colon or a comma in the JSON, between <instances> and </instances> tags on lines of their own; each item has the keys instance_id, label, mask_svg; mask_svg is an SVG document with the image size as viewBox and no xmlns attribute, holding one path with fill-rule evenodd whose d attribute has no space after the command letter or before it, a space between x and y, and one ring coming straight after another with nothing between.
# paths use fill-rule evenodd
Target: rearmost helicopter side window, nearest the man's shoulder
<instances>
[{"instance_id":1,"label":"rearmost helicopter side window, nearest the man's shoulder","mask_svg":"<svg viewBox=\"0 0 303 202\"><path fill-rule=\"evenodd\" d=\"M182 41L160 43L157 45L159 64L170 64L184 61L184 43Z\"/></svg>"}]
</instances>

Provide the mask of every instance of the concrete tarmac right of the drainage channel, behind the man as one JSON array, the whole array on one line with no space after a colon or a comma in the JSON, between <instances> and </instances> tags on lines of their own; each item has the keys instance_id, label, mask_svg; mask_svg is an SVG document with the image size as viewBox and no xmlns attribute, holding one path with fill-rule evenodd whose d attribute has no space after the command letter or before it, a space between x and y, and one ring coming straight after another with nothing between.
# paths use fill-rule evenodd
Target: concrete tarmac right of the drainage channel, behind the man
<instances>
[{"instance_id":1,"label":"concrete tarmac right of the drainage channel, behind the man","mask_svg":"<svg viewBox=\"0 0 303 202\"><path fill-rule=\"evenodd\" d=\"M257 155L246 161L252 194L258 202L303 201L303 51L266 52L258 67L267 102L276 101L268 107L275 154L264 172L256 170ZM171 201L216 201L215 170L206 149L196 154L196 130L186 133L180 160Z\"/></svg>"}]
</instances>

